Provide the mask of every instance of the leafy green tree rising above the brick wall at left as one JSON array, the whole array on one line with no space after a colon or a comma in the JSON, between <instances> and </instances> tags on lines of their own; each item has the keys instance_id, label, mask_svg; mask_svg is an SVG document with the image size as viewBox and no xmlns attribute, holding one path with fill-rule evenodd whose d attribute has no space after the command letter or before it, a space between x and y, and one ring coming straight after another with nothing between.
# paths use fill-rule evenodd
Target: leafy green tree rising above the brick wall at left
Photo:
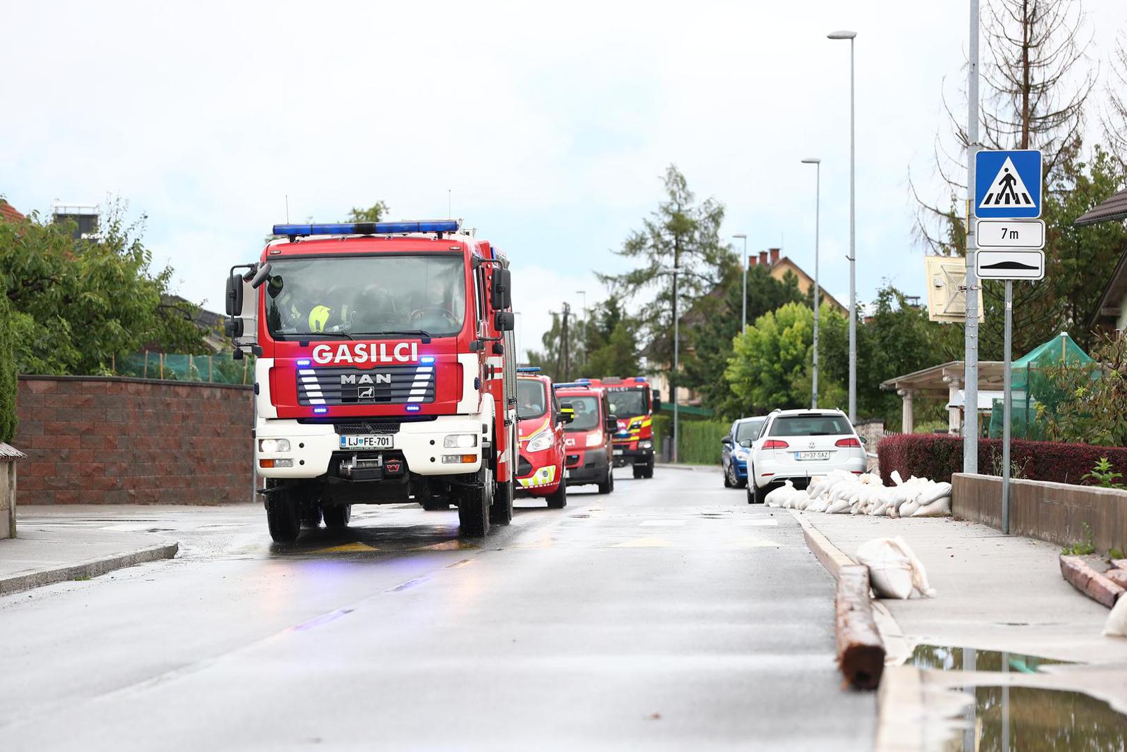
<instances>
[{"instance_id":1,"label":"leafy green tree rising above the brick wall at left","mask_svg":"<svg viewBox=\"0 0 1127 752\"><path fill-rule=\"evenodd\" d=\"M114 359L144 346L202 354L196 307L171 299L172 269L153 271L141 242L144 218L114 203L98 237L37 214L0 223L0 276L12 310L15 357L24 373L110 373Z\"/></svg>"}]
</instances>

